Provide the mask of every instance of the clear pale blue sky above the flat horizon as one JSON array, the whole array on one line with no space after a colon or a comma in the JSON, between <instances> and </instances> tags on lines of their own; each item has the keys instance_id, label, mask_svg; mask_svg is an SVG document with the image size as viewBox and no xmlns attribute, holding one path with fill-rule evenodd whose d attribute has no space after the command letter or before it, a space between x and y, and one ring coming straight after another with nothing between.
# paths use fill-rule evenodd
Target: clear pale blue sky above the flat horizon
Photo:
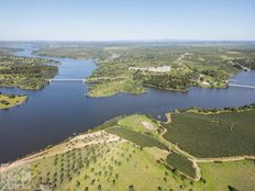
<instances>
[{"instance_id":1,"label":"clear pale blue sky above the flat horizon","mask_svg":"<svg viewBox=\"0 0 255 191\"><path fill-rule=\"evenodd\" d=\"M0 41L255 41L255 0L0 0Z\"/></svg>"}]
</instances>

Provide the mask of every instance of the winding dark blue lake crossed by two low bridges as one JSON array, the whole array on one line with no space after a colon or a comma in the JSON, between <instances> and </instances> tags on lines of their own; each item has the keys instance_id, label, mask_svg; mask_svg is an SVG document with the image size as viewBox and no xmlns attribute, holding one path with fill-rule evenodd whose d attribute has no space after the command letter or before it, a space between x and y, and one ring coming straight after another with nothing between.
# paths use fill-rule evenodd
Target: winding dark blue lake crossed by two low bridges
<instances>
[{"instance_id":1,"label":"winding dark blue lake crossed by two low bridges","mask_svg":"<svg viewBox=\"0 0 255 191\"><path fill-rule=\"evenodd\" d=\"M23 47L25 49L15 55L34 56L31 55L34 47ZM52 59L62 63L55 78L81 79L96 69L91 60ZM239 85L255 85L255 71L242 71L232 80ZM40 91L18 88L0 88L0 91L30 97L25 104L0 111L0 162L57 144L118 115L142 113L160 115L164 120L165 112L180 108L225 108L255 102L255 89L237 87L191 88L188 92L149 88L141 96L120 93L108 98L86 97L88 85L81 82L53 82Z\"/></svg>"}]
</instances>

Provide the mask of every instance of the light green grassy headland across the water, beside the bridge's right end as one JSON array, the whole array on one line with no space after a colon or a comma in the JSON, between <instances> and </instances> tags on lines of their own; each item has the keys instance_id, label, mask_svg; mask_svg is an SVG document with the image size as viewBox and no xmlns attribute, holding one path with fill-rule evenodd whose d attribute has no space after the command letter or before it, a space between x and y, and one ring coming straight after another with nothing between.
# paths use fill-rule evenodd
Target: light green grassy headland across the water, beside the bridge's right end
<instances>
[{"instance_id":1,"label":"light green grassy headland across the water, beside the bridge's right end","mask_svg":"<svg viewBox=\"0 0 255 191\"><path fill-rule=\"evenodd\" d=\"M109 97L117 93L141 94L145 88L134 80L125 79L97 83L89 87L89 97Z\"/></svg>"}]
</instances>

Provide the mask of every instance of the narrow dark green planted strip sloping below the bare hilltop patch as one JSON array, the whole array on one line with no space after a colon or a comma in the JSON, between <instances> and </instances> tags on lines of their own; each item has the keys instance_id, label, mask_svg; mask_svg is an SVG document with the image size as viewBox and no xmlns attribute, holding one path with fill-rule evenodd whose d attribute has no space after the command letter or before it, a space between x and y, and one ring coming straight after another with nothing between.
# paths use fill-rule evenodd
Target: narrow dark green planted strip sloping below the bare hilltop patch
<instances>
[{"instance_id":1,"label":"narrow dark green planted strip sloping below the bare hilltop patch","mask_svg":"<svg viewBox=\"0 0 255 191\"><path fill-rule=\"evenodd\" d=\"M124 127L111 127L108 128L107 132L133 142L141 147L158 147L160 149L168 149L166 145L158 142L157 139Z\"/></svg>"}]
</instances>

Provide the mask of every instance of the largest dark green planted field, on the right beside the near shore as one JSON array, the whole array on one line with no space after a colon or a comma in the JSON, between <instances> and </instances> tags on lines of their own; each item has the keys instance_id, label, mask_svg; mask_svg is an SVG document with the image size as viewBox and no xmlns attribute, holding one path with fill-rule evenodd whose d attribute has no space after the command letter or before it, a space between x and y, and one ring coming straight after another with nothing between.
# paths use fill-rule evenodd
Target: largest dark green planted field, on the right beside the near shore
<instances>
[{"instance_id":1,"label":"largest dark green planted field, on the right beside the near shore","mask_svg":"<svg viewBox=\"0 0 255 191\"><path fill-rule=\"evenodd\" d=\"M173 113L164 137L196 157L254 156L255 109L245 108L217 114Z\"/></svg>"}]
</instances>

